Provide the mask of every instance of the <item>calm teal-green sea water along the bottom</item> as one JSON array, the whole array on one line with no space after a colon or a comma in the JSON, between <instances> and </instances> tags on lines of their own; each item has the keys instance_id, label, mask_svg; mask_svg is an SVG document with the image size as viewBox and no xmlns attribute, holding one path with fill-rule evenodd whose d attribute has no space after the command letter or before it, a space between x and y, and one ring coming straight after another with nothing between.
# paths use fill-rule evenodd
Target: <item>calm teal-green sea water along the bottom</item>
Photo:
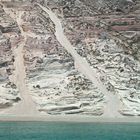
<instances>
[{"instance_id":1,"label":"calm teal-green sea water along the bottom","mask_svg":"<svg viewBox=\"0 0 140 140\"><path fill-rule=\"evenodd\" d=\"M140 123L1 122L0 140L140 140Z\"/></svg>"}]
</instances>

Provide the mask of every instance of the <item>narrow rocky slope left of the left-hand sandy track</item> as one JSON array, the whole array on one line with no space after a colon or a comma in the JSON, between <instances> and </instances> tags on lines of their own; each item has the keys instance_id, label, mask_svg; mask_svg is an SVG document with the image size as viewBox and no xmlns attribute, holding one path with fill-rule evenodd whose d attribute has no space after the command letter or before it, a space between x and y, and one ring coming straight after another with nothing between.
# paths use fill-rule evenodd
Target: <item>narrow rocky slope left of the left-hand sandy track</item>
<instances>
[{"instance_id":1,"label":"narrow rocky slope left of the left-hand sandy track","mask_svg":"<svg viewBox=\"0 0 140 140\"><path fill-rule=\"evenodd\" d=\"M0 6L0 109L7 108L20 100L17 86L11 80L14 73L12 47L17 44L17 24Z\"/></svg>"}]
</instances>

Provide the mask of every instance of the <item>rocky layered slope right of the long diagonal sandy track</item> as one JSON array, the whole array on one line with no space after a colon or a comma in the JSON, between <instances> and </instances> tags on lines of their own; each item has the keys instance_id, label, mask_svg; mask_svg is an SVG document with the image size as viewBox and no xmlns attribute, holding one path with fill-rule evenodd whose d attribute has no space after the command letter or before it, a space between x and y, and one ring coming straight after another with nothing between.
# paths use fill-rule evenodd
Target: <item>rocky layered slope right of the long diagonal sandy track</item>
<instances>
[{"instance_id":1,"label":"rocky layered slope right of the long diagonal sandy track","mask_svg":"<svg viewBox=\"0 0 140 140\"><path fill-rule=\"evenodd\" d=\"M65 34L77 53L96 70L106 88L119 96L120 112L138 113L139 1L71 0L53 1L49 6L61 17Z\"/></svg>"}]
</instances>

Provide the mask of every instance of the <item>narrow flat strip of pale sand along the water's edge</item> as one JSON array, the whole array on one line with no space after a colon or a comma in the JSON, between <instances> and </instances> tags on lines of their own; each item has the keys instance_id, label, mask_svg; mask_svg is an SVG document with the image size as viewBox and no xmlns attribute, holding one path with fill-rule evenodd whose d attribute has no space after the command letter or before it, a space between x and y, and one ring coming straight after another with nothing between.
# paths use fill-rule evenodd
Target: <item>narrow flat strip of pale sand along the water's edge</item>
<instances>
[{"instance_id":1,"label":"narrow flat strip of pale sand along the water's edge","mask_svg":"<svg viewBox=\"0 0 140 140\"><path fill-rule=\"evenodd\" d=\"M140 123L140 117L104 118L93 116L0 115L0 122Z\"/></svg>"}]
</instances>

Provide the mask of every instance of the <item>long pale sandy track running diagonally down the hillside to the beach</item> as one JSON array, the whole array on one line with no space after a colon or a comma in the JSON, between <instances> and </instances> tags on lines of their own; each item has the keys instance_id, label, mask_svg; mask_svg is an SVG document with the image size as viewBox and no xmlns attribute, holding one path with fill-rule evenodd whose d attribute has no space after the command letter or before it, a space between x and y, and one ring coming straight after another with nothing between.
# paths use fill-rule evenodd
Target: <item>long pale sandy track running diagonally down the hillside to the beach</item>
<instances>
[{"instance_id":1,"label":"long pale sandy track running diagonally down the hillside to the beach","mask_svg":"<svg viewBox=\"0 0 140 140\"><path fill-rule=\"evenodd\" d=\"M44 7L40 4L38 4L40 8L42 8L43 11L45 11L52 22L55 24L55 36L59 43L72 55L75 61L75 68L84 74L88 79L92 81L92 83L105 95L106 97L106 106L104 110L104 117L120 117L119 114L119 104L120 100L118 99L118 96L115 94L110 93L107 91L105 86L101 83L99 80L99 77L97 77L96 71L94 71L88 62L83 59L74 49L74 47L71 45L70 41L67 39L67 37L64 34L63 27L61 24L60 19L51 11L49 7Z\"/></svg>"}]
</instances>

